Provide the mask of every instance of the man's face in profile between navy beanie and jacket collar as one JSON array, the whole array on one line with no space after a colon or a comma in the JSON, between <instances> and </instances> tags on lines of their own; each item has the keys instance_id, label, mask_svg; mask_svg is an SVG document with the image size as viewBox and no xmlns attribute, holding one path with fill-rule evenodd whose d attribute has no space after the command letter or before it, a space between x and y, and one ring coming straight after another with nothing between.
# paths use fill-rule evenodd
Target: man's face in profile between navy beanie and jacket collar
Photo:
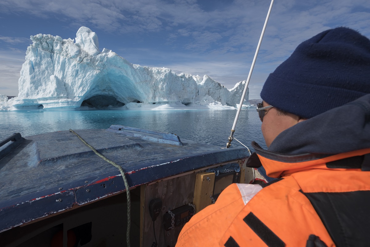
<instances>
[{"instance_id":1,"label":"man's face in profile between navy beanie and jacket collar","mask_svg":"<svg viewBox=\"0 0 370 247\"><path fill-rule=\"evenodd\" d=\"M270 105L265 101L262 101L262 104L263 107ZM266 109L261 126L266 145L269 147L273 140L275 140L276 136L278 136L281 132L303 120L305 119L302 119L294 114L282 114L275 107Z\"/></svg>"}]
</instances>

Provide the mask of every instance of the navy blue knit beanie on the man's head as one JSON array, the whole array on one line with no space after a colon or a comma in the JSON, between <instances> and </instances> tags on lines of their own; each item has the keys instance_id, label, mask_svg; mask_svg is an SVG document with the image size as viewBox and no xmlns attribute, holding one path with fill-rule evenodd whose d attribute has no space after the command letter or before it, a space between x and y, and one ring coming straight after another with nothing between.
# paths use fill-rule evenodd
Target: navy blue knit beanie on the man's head
<instances>
[{"instance_id":1,"label":"navy blue knit beanie on the man's head","mask_svg":"<svg viewBox=\"0 0 370 247\"><path fill-rule=\"evenodd\" d=\"M350 28L304 41L269 75L261 98L283 111L312 118L370 94L370 40Z\"/></svg>"}]
</instances>

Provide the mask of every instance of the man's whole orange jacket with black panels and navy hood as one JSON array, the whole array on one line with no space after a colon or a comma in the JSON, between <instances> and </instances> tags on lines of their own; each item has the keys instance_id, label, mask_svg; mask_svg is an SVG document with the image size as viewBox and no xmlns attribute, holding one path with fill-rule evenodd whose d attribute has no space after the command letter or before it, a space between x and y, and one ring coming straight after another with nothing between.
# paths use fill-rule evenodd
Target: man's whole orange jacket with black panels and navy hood
<instances>
[{"instance_id":1,"label":"man's whole orange jacket with black panels and navy hood","mask_svg":"<svg viewBox=\"0 0 370 247\"><path fill-rule=\"evenodd\" d=\"M176 246L370 246L369 116L367 94L286 129L268 150L252 142L281 179L230 185Z\"/></svg>"}]
</instances>

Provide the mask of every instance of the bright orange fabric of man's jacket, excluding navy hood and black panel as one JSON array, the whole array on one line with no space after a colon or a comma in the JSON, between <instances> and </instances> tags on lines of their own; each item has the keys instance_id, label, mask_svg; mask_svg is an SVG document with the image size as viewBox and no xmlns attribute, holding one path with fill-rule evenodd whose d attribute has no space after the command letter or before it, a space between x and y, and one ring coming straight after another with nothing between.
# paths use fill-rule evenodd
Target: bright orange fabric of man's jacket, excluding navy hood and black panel
<instances>
[{"instance_id":1,"label":"bright orange fabric of man's jacket, excluding navy hood and black panel","mask_svg":"<svg viewBox=\"0 0 370 247\"><path fill-rule=\"evenodd\" d=\"M259 155L269 176L279 173L279 169L286 169L287 165L292 169L285 170L283 179L263 189L260 185L228 186L215 204L195 214L185 224L176 247L296 247L306 246L312 234L327 246L335 246L306 195L320 192L369 192L370 172L326 166L327 162L367 153L370 153L370 149L293 164ZM363 206L368 210L369 204Z\"/></svg>"}]
</instances>

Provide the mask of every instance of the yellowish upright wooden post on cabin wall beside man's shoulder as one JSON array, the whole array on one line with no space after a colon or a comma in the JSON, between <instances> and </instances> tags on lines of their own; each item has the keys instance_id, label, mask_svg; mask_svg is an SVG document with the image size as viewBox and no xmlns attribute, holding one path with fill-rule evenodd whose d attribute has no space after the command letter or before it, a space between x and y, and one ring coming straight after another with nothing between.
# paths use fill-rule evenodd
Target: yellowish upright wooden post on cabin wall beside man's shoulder
<instances>
[{"instance_id":1,"label":"yellowish upright wooden post on cabin wall beside man's shoulder","mask_svg":"<svg viewBox=\"0 0 370 247\"><path fill-rule=\"evenodd\" d=\"M215 185L214 172L202 172L196 175L194 188L194 205L196 212L212 204L213 186Z\"/></svg>"}]
</instances>

